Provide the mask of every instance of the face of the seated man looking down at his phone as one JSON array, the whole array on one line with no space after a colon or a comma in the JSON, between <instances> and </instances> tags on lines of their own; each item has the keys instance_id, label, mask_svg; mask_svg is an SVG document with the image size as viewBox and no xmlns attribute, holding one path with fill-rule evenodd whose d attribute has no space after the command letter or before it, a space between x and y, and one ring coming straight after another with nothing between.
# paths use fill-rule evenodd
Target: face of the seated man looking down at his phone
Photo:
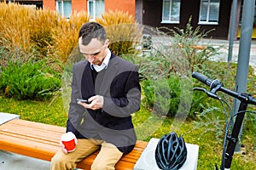
<instances>
[{"instance_id":1,"label":"face of the seated man looking down at his phone","mask_svg":"<svg viewBox=\"0 0 256 170\"><path fill-rule=\"evenodd\" d=\"M79 48L80 53L84 55L93 65L102 65L103 59L105 59L108 54L108 40L102 44L96 38L91 39L88 45L82 44L82 37L79 37Z\"/></svg>"}]
</instances>

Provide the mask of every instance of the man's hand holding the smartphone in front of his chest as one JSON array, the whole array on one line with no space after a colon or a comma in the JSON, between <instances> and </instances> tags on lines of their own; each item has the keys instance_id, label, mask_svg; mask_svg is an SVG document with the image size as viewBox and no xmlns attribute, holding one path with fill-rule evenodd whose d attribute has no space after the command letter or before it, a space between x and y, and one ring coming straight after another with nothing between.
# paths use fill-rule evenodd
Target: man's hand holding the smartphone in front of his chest
<instances>
[{"instance_id":1,"label":"man's hand holding the smartphone in front of his chest","mask_svg":"<svg viewBox=\"0 0 256 170\"><path fill-rule=\"evenodd\" d=\"M86 109L91 109L91 110L98 110L101 109L104 103L104 98L101 95L96 95L92 96L90 99L88 99L90 104L78 102L79 105L84 105Z\"/></svg>"}]
</instances>

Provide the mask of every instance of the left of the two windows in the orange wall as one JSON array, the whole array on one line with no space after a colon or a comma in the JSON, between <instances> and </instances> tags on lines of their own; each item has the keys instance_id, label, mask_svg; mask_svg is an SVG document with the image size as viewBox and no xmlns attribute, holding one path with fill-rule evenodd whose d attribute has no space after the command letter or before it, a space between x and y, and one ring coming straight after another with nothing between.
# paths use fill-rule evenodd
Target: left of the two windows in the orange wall
<instances>
[{"instance_id":1,"label":"left of the two windows in the orange wall","mask_svg":"<svg viewBox=\"0 0 256 170\"><path fill-rule=\"evenodd\" d=\"M61 14L61 16L69 19L72 11L71 1L56 1L56 10Z\"/></svg>"}]
</instances>

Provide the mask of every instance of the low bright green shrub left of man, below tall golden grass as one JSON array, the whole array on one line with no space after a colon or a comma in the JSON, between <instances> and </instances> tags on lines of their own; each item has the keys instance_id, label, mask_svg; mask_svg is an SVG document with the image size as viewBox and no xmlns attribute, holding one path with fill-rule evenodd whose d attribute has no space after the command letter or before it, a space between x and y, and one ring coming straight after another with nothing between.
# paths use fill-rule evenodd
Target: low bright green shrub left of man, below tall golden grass
<instances>
[{"instance_id":1,"label":"low bright green shrub left of man, below tall golden grass","mask_svg":"<svg viewBox=\"0 0 256 170\"><path fill-rule=\"evenodd\" d=\"M15 99L49 99L61 88L61 77L49 69L46 61L9 61L1 68L0 89Z\"/></svg>"}]
</instances>

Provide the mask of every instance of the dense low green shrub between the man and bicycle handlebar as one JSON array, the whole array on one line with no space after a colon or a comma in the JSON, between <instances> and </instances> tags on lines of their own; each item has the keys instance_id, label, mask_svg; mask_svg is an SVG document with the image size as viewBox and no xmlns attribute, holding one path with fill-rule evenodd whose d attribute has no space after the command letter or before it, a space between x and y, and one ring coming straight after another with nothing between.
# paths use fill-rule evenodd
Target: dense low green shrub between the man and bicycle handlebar
<instances>
[{"instance_id":1,"label":"dense low green shrub between the man and bicycle handlebar","mask_svg":"<svg viewBox=\"0 0 256 170\"><path fill-rule=\"evenodd\" d=\"M176 74L170 74L167 79L147 79L142 83L143 105L158 116L173 117L178 114L188 114L192 99L190 82ZM153 108L153 109L152 109Z\"/></svg>"}]
</instances>

